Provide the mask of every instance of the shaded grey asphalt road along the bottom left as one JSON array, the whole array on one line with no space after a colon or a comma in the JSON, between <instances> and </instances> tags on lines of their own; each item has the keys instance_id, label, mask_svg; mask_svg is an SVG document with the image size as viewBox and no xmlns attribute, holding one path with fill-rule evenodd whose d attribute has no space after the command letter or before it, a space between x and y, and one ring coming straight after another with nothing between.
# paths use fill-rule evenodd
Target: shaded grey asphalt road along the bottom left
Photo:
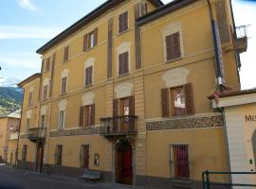
<instances>
[{"instance_id":1,"label":"shaded grey asphalt road along the bottom left","mask_svg":"<svg viewBox=\"0 0 256 189\"><path fill-rule=\"evenodd\" d=\"M0 166L0 189L130 189L112 183L88 183L83 180L42 175L8 166Z\"/></svg>"}]
</instances>

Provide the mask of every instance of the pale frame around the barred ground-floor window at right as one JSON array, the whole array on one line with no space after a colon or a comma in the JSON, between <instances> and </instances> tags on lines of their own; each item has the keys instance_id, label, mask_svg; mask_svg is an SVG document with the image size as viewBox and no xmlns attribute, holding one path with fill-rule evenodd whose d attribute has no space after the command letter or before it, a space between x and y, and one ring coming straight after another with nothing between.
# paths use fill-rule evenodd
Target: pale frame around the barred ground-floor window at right
<instances>
[{"instance_id":1,"label":"pale frame around the barred ground-floor window at right","mask_svg":"<svg viewBox=\"0 0 256 189\"><path fill-rule=\"evenodd\" d=\"M190 176L189 176L189 179L186 180L186 181L190 181L192 180L192 163L191 163L191 146L190 144L188 143L174 143L174 144L170 144L170 147L169 147L169 153L170 153L170 168L171 168L171 179L172 180L176 180L174 178L174 146L188 146L188 154L189 154L189 169L190 169ZM177 180L177 181L185 181L185 180Z\"/></svg>"}]
</instances>

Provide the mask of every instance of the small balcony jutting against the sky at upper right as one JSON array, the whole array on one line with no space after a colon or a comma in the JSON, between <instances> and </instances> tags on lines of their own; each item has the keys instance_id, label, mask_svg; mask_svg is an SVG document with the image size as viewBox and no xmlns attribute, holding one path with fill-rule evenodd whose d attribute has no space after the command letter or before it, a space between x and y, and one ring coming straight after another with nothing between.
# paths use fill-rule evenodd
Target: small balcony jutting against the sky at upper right
<instances>
[{"instance_id":1,"label":"small balcony jutting against the sky at upper right","mask_svg":"<svg viewBox=\"0 0 256 189\"><path fill-rule=\"evenodd\" d=\"M237 26L235 28L234 48L239 54L247 51L247 27Z\"/></svg>"}]
</instances>

